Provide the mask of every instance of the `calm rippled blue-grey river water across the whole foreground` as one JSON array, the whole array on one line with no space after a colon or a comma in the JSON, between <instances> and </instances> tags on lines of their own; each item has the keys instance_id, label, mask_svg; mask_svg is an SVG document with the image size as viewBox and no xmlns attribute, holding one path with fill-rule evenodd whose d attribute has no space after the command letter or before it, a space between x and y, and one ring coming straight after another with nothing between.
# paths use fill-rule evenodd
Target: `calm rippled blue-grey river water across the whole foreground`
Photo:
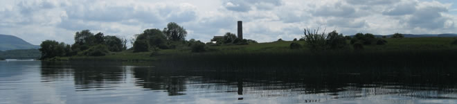
<instances>
[{"instance_id":1,"label":"calm rippled blue-grey river water across the whole foreground","mask_svg":"<svg viewBox=\"0 0 457 104\"><path fill-rule=\"evenodd\" d=\"M451 75L201 69L0 61L0 103L457 103Z\"/></svg>"}]
</instances>

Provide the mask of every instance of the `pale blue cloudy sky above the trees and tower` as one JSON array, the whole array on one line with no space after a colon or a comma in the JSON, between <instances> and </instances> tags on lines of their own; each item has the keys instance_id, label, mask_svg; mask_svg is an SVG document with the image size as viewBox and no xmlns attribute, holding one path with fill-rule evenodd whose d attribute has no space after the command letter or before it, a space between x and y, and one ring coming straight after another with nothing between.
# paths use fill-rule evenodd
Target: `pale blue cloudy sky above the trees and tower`
<instances>
[{"instance_id":1,"label":"pale blue cloudy sky above the trees and tower","mask_svg":"<svg viewBox=\"0 0 457 104\"><path fill-rule=\"evenodd\" d=\"M38 45L73 44L91 30L130 39L147 28L176 22L186 40L208 42L237 33L258 42L303 36L303 28L343 35L457 33L455 0L2 0L0 34Z\"/></svg>"}]
</instances>

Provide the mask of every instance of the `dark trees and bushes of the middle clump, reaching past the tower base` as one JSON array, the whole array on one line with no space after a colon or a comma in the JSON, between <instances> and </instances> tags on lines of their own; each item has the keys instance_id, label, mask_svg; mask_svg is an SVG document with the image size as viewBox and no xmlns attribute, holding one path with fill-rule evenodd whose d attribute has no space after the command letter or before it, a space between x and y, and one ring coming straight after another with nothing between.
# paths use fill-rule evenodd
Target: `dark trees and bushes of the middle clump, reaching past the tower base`
<instances>
[{"instance_id":1,"label":"dark trees and bushes of the middle clump, reaching past the tower base","mask_svg":"<svg viewBox=\"0 0 457 104\"><path fill-rule=\"evenodd\" d=\"M208 46L257 43L254 40L242 40L233 33L226 33L224 37L213 40L216 43L204 43L194 39L186 40L186 36L186 28L170 22L162 31L152 28L135 35L135 38L132 40L132 44L134 45L133 51L146 52L158 51L159 49L190 49L192 52L204 52L208 51Z\"/></svg>"}]
</instances>

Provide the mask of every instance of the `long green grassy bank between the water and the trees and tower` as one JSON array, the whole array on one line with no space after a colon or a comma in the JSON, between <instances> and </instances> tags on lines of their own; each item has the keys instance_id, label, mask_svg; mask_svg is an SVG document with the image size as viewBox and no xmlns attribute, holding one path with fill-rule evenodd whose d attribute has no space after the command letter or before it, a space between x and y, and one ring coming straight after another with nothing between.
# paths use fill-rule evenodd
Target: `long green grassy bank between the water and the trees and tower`
<instances>
[{"instance_id":1,"label":"long green grassy bank between the water and the trees and tower","mask_svg":"<svg viewBox=\"0 0 457 104\"><path fill-rule=\"evenodd\" d=\"M364 45L363 51L354 51L352 46L346 50L340 51L323 51L312 53L303 41L296 41L303 45L302 49L289 49L289 44L292 41L283 42L266 42L248 45L227 45L227 46L208 46L208 51L204 53L192 53L190 48L182 49L165 49L157 53L143 52L133 53L132 51L122 51L118 53L109 53L109 55L100 57L89 56L73 56L63 58L53 58L50 60L100 60L100 61L154 61L163 60L170 57L179 56L198 56L202 55L262 55L262 57L273 57L271 55L434 55L440 53L449 53L450 51L457 51L457 45L450 43L456 40L454 37L416 37L416 38L402 38L393 39L388 38L385 45ZM268 56L263 56L268 55ZM292 57L292 56L291 56ZM303 56L305 57L305 56ZM411 56L413 57L413 56ZM201 59L205 60L205 59Z\"/></svg>"}]
</instances>

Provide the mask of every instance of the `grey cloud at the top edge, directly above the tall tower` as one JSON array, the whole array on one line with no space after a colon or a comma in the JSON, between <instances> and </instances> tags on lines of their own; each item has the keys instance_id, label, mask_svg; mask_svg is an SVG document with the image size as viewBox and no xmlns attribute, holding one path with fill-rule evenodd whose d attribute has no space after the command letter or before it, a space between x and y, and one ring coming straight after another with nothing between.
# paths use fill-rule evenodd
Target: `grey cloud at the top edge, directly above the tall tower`
<instances>
[{"instance_id":1,"label":"grey cloud at the top edge, directly above the tall tower","mask_svg":"<svg viewBox=\"0 0 457 104\"><path fill-rule=\"evenodd\" d=\"M281 0L227 0L224 1L224 8L236 12L248 12L252 8L258 10L271 10L276 6L281 6L283 2Z\"/></svg>"}]
</instances>

